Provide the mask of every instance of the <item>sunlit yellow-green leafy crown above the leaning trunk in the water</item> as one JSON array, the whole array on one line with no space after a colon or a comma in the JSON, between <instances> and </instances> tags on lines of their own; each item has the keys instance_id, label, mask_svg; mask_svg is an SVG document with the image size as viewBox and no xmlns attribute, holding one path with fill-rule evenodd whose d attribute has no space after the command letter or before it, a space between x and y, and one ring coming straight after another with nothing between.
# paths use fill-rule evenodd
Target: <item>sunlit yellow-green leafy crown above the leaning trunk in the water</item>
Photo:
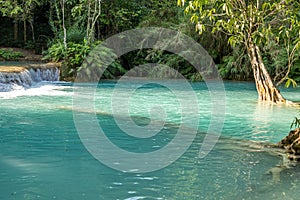
<instances>
[{"instance_id":1,"label":"sunlit yellow-green leafy crown above the leaning trunk in the water","mask_svg":"<svg viewBox=\"0 0 300 200\"><path fill-rule=\"evenodd\" d=\"M178 0L185 6L186 0ZM294 0L193 0L185 7L192 13L191 21L202 33L209 26L212 32L222 31L228 42L235 46L247 43L268 42L276 38L279 42L292 35L294 45L299 46L300 6Z\"/></svg>"}]
</instances>

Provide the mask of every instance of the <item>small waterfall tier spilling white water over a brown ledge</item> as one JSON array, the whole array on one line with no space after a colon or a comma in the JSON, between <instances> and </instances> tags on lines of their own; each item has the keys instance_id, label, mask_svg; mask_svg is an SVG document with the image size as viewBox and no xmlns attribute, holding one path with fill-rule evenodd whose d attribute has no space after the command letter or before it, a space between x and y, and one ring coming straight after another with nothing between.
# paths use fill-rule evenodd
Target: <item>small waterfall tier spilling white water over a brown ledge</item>
<instances>
[{"instance_id":1,"label":"small waterfall tier spilling white water over a brown ledge","mask_svg":"<svg viewBox=\"0 0 300 200\"><path fill-rule=\"evenodd\" d=\"M29 88L41 81L59 81L58 63L0 66L0 92Z\"/></svg>"}]
</instances>

